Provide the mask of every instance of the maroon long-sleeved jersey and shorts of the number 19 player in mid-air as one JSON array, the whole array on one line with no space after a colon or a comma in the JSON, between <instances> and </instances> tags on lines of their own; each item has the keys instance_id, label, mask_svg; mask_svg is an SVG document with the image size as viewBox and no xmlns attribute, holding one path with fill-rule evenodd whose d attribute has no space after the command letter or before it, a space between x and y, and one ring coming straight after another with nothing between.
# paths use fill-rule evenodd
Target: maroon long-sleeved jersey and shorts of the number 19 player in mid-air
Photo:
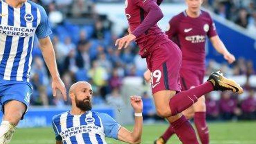
<instances>
[{"instance_id":1,"label":"maroon long-sleeved jersey and shorts of the number 19 player in mid-air","mask_svg":"<svg viewBox=\"0 0 256 144\"><path fill-rule=\"evenodd\" d=\"M152 93L161 90L180 91L182 54L179 47L157 26L162 18L161 10L155 6L159 3L154 0L127 0L125 3L125 14L140 47L139 54L146 58L147 67L152 72Z\"/></svg>"}]
</instances>

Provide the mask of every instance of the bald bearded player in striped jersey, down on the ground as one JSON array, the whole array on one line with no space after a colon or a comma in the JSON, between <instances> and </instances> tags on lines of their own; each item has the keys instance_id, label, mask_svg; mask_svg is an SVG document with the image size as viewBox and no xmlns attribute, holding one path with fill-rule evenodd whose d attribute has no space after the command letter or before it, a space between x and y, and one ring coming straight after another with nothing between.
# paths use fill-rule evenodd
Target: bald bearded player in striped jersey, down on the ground
<instances>
[{"instance_id":1,"label":"bald bearded player in striped jersey, down on the ground","mask_svg":"<svg viewBox=\"0 0 256 144\"><path fill-rule=\"evenodd\" d=\"M105 136L127 143L140 143L142 134L141 97L131 96L131 106L135 111L135 124L132 132L119 125L105 113L92 109L92 86L79 81L70 87L72 102L70 111L55 115L52 120L56 144L106 144Z\"/></svg>"}]
</instances>

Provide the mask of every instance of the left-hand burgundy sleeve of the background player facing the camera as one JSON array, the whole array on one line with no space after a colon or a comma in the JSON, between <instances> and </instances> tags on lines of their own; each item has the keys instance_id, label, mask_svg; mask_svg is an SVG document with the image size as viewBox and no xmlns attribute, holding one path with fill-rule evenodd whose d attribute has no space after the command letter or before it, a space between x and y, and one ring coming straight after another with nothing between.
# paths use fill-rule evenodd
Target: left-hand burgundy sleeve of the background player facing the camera
<instances>
[{"instance_id":1,"label":"left-hand burgundy sleeve of the background player facing the camera","mask_svg":"<svg viewBox=\"0 0 256 144\"><path fill-rule=\"evenodd\" d=\"M168 25L167 31L165 33L166 33L166 35L168 35L169 39L172 39L173 37L175 37L177 32L178 32L178 20L175 18L172 18L169 21L169 25Z\"/></svg>"}]
</instances>

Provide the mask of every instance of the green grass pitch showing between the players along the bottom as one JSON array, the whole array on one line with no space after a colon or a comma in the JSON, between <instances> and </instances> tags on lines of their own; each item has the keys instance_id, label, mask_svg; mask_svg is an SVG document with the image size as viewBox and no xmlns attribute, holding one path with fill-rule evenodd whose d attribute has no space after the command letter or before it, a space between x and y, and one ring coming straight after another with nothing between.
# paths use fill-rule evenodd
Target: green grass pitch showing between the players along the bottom
<instances>
[{"instance_id":1,"label":"green grass pitch showing between the players along the bottom","mask_svg":"<svg viewBox=\"0 0 256 144\"><path fill-rule=\"evenodd\" d=\"M153 144L168 125L145 125L143 127L143 144ZM126 126L132 129L132 126ZM256 121L254 122L223 122L209 123L210 141L212 144L256 144ZM53 144L54 133L51 128L17 129L10 144ZM122 144L122 142L107 138L109 144ZM168 144L179 144L174 136Z\"/></svg>"}]
</instances>

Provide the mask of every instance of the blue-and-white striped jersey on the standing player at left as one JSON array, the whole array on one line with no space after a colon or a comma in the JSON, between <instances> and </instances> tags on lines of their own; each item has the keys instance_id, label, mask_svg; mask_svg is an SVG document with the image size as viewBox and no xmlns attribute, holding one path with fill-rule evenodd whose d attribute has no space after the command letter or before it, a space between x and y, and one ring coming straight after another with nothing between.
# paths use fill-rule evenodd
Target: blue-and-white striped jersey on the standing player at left
<instances>
[{"instance_id":1,"label":"blue-and-white striped jersey on the standing player at left","mask_svg":"<svg viewBox=\"0 0 256 144\"><path fill-rule=\"evenodd\" d=\"M0 80L29 81L35 35L51 34L42 6L31 1L13 8L0 0Z\"/></svg>"}]
</instances>

